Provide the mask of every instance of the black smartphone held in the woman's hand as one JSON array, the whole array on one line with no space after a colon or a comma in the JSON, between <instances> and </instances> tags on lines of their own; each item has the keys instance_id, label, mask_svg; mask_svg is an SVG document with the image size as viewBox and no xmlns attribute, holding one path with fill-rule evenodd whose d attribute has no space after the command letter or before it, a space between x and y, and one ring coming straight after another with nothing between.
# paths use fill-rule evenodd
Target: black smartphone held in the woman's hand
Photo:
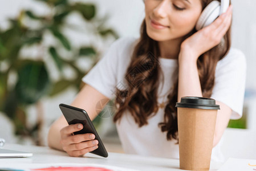
<instances>
[{"instance_id":1,"label":"black smartphone held in the woman's hand","mask_svg":"<svg viewBox=\"0 0 256 171\"><path fill-rule=\"evenodd\" d=\"M90 153L97 154L102 157L108 157L108 152L100 140L100 136L97 134L94 124L92 124L87 112L84 111L84 109L76 108L67 104L59 104L59 108L69 125L78 123L83 124L83 129L78 132L74 132L74 135L83 133L93 133L95 135L95 140L99 141L98 148Z\"/></svg>"}]
</instances>

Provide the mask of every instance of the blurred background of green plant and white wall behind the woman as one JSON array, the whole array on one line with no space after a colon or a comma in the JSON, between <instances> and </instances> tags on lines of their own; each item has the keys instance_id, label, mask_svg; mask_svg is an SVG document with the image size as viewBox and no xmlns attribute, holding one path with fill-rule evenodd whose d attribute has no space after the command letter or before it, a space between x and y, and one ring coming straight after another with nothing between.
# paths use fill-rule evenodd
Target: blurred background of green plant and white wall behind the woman
<instances>
[{"instance_id":1,"label":"blurred background of green plant and white wall behind the woman","mask_svg":"<svg viewBox=\"0 0 256 171\"><path fill-rule=\"evenodd\" d=\"M231 2L232 43L246 56L247 78L243 116L228 127L256 131L256 1ZM0 138L47 145L48 129L62 115L58 105L74 100L113 41L139 37L144 17L141 0L1 1ZM113 113L102 116L94 124L108 151L123 152Z\"/></svg>"}]
</instances>

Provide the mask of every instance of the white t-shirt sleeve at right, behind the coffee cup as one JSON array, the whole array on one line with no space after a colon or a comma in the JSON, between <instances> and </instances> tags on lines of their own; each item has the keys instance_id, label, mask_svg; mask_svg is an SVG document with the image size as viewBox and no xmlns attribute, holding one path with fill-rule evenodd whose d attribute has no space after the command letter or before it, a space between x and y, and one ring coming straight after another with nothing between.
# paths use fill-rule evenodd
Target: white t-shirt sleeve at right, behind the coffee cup
<instances>
[{"instance_id":1,"label":"white t-shirt sleeve at right, behind the coffee cup","mask_svg":"<svg viewBox=\"0 0 256 171\"><path fill-rule=\"evenodd\" d=\"M246 83L246 58L242 51L230 48L216 67L212 98L232 109L231 119L242 116Z\"/></svg>"}]
</instances>

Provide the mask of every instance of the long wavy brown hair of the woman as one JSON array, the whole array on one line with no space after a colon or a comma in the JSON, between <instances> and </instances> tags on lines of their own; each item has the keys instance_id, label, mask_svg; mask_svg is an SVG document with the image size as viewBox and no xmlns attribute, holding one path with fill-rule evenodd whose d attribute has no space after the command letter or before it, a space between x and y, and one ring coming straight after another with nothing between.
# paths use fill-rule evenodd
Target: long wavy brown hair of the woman
<instances>
[{"instance_id":1,"label":"long wavy brown hair of the woman","mask_svg":"<svg viewBox=\"0 0 256 171\"><path fill-rule=\"evenodd\" d=\"M212 0L201 0L204 9ZM196 30L190 32L193 34ZM202 88L202 95L210 97L214 86L215 71L219 60L224 58L231 46L231 28L227 31L221 43L199 56L197 60L198 74ZM137 42L131 63L129 64L125 81L126 89L116 88L115 104L116 115L113 120L116 122L121 118L124 111L128 110L139 127L148 124L148 118L155 116L159 109L157 105L157 89L162 80L159 65L160 50L157 41L149 38L146 31L145 19L140 28L140 39ZM177 124L177 102L178 78L174 80L173 91L168 95L168 104L164 109L164 121L159 123L162 132L167 132L166 139L176 139Z\"/></svg>"}]
</instances>

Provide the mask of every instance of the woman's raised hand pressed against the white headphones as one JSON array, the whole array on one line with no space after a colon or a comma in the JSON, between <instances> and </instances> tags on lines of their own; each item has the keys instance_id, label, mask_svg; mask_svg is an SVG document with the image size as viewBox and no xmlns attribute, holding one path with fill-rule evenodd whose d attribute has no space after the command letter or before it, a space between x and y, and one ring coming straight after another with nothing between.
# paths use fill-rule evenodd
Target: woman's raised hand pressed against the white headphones
<instances>
[{"instance_id":1,"label":"woman's raised hand pressed against the white headphones","mask_svg":"<svg viewBox=\"0 0 256 171\"><path fill-rule=\"evenodd\" d=\"M197 58L204 52L217 46L230 27L232 18L232 5L212 24L194 33L181 43L181 51L189 53L189 58ZM193 56L193 57L192 57Z\"/></svg>"}]
</instances>

